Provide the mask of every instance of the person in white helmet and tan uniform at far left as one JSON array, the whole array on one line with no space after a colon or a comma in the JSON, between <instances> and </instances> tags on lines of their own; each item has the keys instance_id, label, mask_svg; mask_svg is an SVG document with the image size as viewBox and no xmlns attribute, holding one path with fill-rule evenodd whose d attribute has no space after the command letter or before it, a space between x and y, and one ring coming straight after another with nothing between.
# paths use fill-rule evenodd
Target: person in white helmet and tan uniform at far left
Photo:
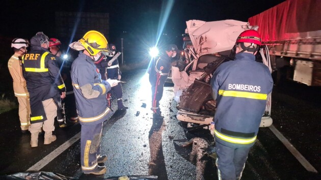
<instances>
[{"instance_id":1,"label":"person in white helmet and tan uniform at far left","mask_svg":"<svg viewBox=\"0 0 321 180\"><path fill-rule=\"evenodd\" d=\"M8 61L8 68L10 75L13 80L13 91L14 96L17 97L19 102L19 119L21 132L28 132L30 126L30 102L29 93L26 88L25 79L22 75L21 57L27 52L29 41L16 38L12 41L11 47L13 48L14 54Z\"/></svg>"}]
</instances>

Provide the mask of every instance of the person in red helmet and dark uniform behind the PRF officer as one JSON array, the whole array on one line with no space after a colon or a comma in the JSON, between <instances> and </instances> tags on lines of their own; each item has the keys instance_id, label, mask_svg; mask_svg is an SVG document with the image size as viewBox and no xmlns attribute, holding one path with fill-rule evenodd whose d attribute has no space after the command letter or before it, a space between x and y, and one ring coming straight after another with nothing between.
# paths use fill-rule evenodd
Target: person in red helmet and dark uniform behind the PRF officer
<instances>
[{"instance_id":1,"label":"person in red helmet and dark uniform behind the PRF officer","mask_svg":"<svg viewBox=\"0 0 321 180\"><path fill-rule=\"evenodd\" d=\"M56 55L57 64L60 68L61 76L66 85L66 100L62 99L61 102L57 102L60 108L57 109L57 121L61 128L67 126L66 116L69 118L69 122L78 123L78 114L76 110L76 103L73 95L73 87L71 82L70 75L70 65L66 62L66 59L62 59L62 51L61 51L61 41L57 38L49 39L49 51Z\"/></svg>"}]
</instances>

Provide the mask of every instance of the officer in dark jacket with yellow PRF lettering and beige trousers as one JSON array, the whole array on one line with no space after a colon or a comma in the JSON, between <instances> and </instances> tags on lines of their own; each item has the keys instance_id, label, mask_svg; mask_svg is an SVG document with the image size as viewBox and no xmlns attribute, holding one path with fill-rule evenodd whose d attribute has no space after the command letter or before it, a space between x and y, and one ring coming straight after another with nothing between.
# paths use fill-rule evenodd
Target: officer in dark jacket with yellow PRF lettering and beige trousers
<instances>
[{"instance_id":1,"label":"officer in dark jacket with yellow PRF lettering and beige trousers","mask_svg":"<svg viewBox=\"0 0 321 180\"><path fill-rule=\"evenodd\" d=\"M31 38L31 51L23 56L23 76L30 95L31 133L30 144L38 146L41 127L45 132L44 144L56 140L53 121L57 116L57 106L53 99L65 97L65 84L61 78L56 57L48 51L48 37L42 32Z\"/></svg>"}]
</instances>

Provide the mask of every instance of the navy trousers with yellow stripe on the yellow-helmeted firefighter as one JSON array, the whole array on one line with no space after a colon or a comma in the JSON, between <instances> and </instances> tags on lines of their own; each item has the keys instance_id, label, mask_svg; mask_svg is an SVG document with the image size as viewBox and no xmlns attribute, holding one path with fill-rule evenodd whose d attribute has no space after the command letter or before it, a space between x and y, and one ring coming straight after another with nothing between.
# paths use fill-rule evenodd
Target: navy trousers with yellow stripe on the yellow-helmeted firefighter
<instances>
[{"instance_id":1,"label":"navy trousers with yellow stripe on the yellow-helmeted firefighter","mask_svg":"<svg viewBox=\"0 0 321 180\"><path fill-rule=\"evenodd\" d=\"M81 130L81 161L84 172L96 168L97 157L100 156L100 140L102 124L82 125Z\"/></svg>"}]
</instances>

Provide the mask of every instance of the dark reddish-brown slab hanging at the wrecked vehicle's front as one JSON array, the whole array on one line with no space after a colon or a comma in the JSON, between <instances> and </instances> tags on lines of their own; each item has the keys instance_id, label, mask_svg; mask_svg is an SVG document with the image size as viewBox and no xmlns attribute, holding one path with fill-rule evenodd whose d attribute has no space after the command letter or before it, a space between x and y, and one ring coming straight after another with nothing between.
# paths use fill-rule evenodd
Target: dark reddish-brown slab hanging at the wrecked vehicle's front
<instances>
[{"instance_id":1,"label":"dark reddish-brown slab hanging at the wrecked vehicle's front","mask_svg":"<svg viewBox=\"0 0 321 180\"><path fill-rule=\"evenodd\" d=\"M195 79L194 83L180 97L178 109L199 112L204 102L212 99L210 85Z\"/></svg>"}]
</instances>

